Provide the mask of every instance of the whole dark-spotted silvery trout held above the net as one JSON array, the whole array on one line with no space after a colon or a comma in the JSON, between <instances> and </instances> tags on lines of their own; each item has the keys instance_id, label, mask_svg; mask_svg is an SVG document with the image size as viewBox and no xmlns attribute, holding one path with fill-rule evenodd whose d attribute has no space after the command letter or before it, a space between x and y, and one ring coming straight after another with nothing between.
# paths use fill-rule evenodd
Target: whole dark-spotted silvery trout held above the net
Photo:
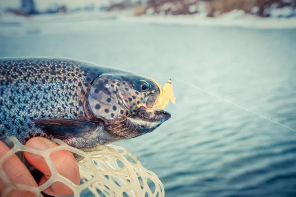
<instances>
[{"instance_id":1,"label":"whole dark-spotted silvery trout held above the net","mask_svg":"<svg viewBox=\"0 0 296 197\"><path fill-rule=\"evenodd\" d=\"M148 109L160 91L140 74L80 60L1 58L0 140L41 136L87 149L135 138L170 119Z\"/></svg>"}]
</instances>

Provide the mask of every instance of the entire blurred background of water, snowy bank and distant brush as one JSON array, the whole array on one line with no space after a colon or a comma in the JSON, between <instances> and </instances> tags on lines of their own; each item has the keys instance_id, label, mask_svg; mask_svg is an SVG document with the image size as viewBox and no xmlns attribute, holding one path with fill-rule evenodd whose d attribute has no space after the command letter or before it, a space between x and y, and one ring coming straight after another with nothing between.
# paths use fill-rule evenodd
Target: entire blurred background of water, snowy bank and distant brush
<instances>
[{"instance_id":1,"label":"entire blurred background of water, snowy bank and distant brush","mask_svg":"<svg viewBox=\"0 0 296 197\"><path fill-rule=\"evenodd\" d=\"M1 0L0 57L14 56L173 75L296 130L296 0ZM173 86L172 118L117 143L167 197L296 196L295 131Z\"/></svg>"}]
</instances>

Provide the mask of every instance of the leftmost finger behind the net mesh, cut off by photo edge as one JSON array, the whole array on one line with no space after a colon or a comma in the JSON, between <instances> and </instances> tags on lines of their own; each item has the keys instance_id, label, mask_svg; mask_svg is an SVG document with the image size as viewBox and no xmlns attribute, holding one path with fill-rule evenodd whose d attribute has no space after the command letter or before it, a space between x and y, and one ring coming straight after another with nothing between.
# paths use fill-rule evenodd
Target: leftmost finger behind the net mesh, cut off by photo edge
<instances>
[{"instance_id":1,"label":"leftmost finger behind the net mesh, cut off by photo edge","mask_svg":"<svg viewBox=\"0 0 296 197\"><path fill-rule=\"evenodd\" d=\"M5 155L10 149L0 141L0 158ZM13 154L7 158L2 164L3 170L10 180L14 184L23 184L28 186L37 187L37 183L29 172L28 168L19 160L19 158ZM3 178L3 177L2 177ZM0 194L4 192L6 185L0 178ZM24 190L13 190L8 196L11 197L34 197L35 195L31 192Z\"/></svg>"}]
</instances>

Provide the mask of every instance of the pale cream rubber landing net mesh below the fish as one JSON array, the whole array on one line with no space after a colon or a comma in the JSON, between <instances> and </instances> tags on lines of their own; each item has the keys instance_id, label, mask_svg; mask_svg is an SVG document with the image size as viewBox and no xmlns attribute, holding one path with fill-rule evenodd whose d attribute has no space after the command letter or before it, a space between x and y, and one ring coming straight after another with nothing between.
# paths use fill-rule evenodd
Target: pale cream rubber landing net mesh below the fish
<instances>
[{"instance_id":1,"label":"pale cream rubber landing net mesh below the fish","mask_svg":"<svg viewBox=\"0 0 296 197\"><path fill-rule=\"evenodd\" d=\"M122 147L98 146L94 151L84 152L68 146L61 140L53 139L52 141L60 146L44 151L24 146L15 137L9 137L8 140L14 146L0 158L0 177L7 186L1 197L7 196L14 189L27 190L37 197L43 197L40 192L57 181L71 188L74 197L79 197L85 189L95 197L164 197L164 188L157 175L144 168L135 156ZM83 157L78 162L80 185L74 185L57 172L50 154L60 150L68 150ZM2 165L7 158L19 151L43 156L52 174L50 179L38 187L12 183Z\"/></svg>"}]
</instances>

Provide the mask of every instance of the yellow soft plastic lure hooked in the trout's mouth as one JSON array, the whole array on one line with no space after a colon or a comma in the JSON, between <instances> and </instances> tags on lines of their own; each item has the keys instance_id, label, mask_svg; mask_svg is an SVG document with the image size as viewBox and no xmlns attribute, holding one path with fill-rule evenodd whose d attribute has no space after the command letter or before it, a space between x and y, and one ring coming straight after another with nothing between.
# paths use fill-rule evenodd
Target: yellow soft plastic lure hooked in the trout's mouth
<instances>
[{"instance_id":1,"label":"yellow soft plastic lure hooked in the trout's mouth","mask_svg":"<svg viewBox=\"0 0 296 197\"><path fill-rule=\"evenodd\" d=\"M172 81L171 79L169 79L165 84L164 87L161 88L161 86L152 78L149 78L151 81L153 81L159 88L159 97L156 100L155 104L153 107L148 108L146 106L146 104L141 103L139 104L137 107L145 107L147 109L154 109L154 108L160 108L160 109L164 109L166 105L169 104L169 101L171 100L171 102L173 104L175 104L176 102L176 98L174 97L174 92L173 92L173 85L172 85Z\"/></svg>"}]
</instances>

